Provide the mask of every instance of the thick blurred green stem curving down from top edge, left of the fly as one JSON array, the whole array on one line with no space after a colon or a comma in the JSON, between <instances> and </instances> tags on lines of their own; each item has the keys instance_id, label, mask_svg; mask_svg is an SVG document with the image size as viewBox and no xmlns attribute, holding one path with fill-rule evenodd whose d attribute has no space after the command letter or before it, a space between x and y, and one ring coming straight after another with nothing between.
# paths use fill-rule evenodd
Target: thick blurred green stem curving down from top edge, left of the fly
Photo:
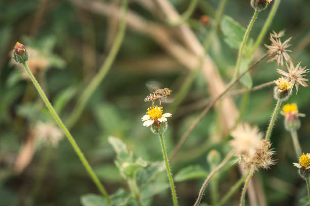
<instances>
[{"instance_id":1,"label":"thick blurred green stem curving down from top edge, left of the fly","mask_svg":"<svg viewBox=\"0 0 310 206\"><path fill-rule=\"evenodd\" d=\"M104 64L99 69L98 74L92 79L92 81L86 87L86 89L80 96L78 102L76 103L75 108L73 109L71 115L69 116L66 122L68 125L68 128L71 128L76 123L76 121L79 120L79 118L81 117L85 109L85 106L88 100L90 99L92 94L95 92L99 84L102 82L103 78L106 76L107 72L109 71L113 61L115 60L115 57L117 56L120 50L120 47L122 45L125 31L126 31L126 15L127 15L127 0L123 0L122 19L121 19L120 28L119 28L117 37L115 37L115 41L113 42L110 53L108 54Z\"/></svg>"}]
</instances>

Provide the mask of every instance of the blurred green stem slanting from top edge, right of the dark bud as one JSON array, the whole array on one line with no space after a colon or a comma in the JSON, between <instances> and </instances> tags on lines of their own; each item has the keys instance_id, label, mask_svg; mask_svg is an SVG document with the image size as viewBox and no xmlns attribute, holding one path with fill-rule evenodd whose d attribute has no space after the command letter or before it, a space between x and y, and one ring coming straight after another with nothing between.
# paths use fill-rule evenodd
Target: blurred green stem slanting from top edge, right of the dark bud
<instances>
[{"instance_id":1,"label":"blurred green stem slanting from top edge, right of the dark bud","mask_svg":"<svg viewBox=\"0 0 310 206\"><path fill-rule=\"evenodd\" d=\"M268 15L268 17L267 17L267 19L265 21L265 24L264 24L263 28L260 30L260 33L259 33L259 35L258 35L258 37L257 37L257 39L256 39L256 41L254 43L254 46L253 46L253 49L252 49L250 57L255 53L256 49L259 46L259 44L263 40L263 38L264 38L264 36L265 36L265 34L266 34L270 24L272 23L275 15L277 13L277 10L279 8L280 2L281 2L281 0L276 0L274 2L273 8L270 10L269 15Z\"/></svg>"}]
</instances>

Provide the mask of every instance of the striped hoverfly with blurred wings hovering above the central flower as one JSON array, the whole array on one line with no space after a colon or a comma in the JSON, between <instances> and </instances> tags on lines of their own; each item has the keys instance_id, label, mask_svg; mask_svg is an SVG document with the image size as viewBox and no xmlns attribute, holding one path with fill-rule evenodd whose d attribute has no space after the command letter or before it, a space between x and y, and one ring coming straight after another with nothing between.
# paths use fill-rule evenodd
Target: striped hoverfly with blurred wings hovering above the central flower
<instances>
[{"instance_id":1,"label":"striped hoverfly with blurred wings hovering above the central flower","mask_svg":"<svg viewBox=\"0 0 310 206\"><path fill-rule=\"evenodd\" d=\"M152 101L152 106L154 105L156 100L160 100L160 105L163 102L171 102L171 99L167 99L172 92L171 89L165 87L164 89L159 89L160 84L156 81L149 81L146 83L146 86L150 90L155 90L144 98L144 101Z\"/></svg>"}]
</instances>

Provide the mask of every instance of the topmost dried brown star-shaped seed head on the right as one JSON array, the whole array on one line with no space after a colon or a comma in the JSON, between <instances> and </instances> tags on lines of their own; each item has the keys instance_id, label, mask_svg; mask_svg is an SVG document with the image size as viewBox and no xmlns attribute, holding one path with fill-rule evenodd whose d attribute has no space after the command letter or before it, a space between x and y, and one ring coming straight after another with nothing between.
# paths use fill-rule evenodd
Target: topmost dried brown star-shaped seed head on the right
<instances>
[{"instance_id":1,"label":"topmost dried brown star-shaped seed head on the right","mask_svg":"<svg viewBox=\"0 0 310 206\"><path fill-rule=\"evenodd\" d=\"M283 66L283 59L285 59L285 61L287 62L291 60L290 56L287 53L292 51L286 48L290 46L289 41L291 40L292 37L288 38L286 41L282 43L280 38L283 35L284 31L280 31L278 34L276 32L270 33L269 39L272 42L272 44L271 45L265 44L265 46L268 48L267 51L268 57L274 56L267 62L277 61L278 66L280 64L281 66Z\"/></svg>"}]
</instances>

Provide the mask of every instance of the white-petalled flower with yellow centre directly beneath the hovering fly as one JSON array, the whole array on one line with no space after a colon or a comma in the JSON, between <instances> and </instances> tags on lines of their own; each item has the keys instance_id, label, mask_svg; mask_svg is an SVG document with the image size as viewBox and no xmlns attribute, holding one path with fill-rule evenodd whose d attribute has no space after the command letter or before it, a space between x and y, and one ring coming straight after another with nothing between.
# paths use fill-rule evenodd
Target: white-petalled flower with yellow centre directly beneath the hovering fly
<instances>
[{"instance_id":1,"label":"white-petalled flower with yellow centre directly beneath the hovering fly","mask_svg":"<svg viewBox=\"0 0 310 206\"><path fill-rule=\"evenodd\" d=\"M150 126L152 125L153 123L156 124L157 126L159 126L161 123L164 123L164 122L167 122L167 117L171 117L172 114L170 113L165 113L165 114L162 114L163 113L163 107L150 107L150 108L147 108L147 112L146 112L146 115L144 115L141 120L142 121L145 121L143 123L143 126Z\"/></svg>"}]
</instances>

